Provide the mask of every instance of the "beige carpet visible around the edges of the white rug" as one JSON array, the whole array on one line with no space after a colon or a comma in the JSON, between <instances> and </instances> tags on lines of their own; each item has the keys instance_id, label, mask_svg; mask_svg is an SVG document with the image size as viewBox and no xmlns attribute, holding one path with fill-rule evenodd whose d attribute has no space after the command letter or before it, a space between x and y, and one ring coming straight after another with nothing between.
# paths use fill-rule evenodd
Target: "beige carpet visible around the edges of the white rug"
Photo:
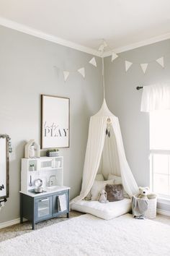
<instances>
[{"instance_id":1,"label":"beige carpet visible around the edges of the white rug","mask_svg":"<svg viewBox=\"0 0 170 256\"><path fill-rule=\"evenodd\" d=\"M77 216L80 216L82 213L76 212L76 211L71 211L70 213L70 218L75 218ZM35 225L35 229L42 229L45 226L50 226L55 223L59 223L61 221L67 221L68 218L65 216L60 217L60 218L52 218L48 221L42 221L40 223L37 223ZM156 218L153 219L153 221L158 221L161 223L165 223L170 226L170 217L168 216L163 216L160 214L157 214ZM9 226L4 229L0 229L0 242L5 241L7 239L11 239L15 236L21 236L22 234L26 234L32 232L32 224L29 221L26 221L22 224L16 224L13 226Z\"/></svg>"}]
</instances>

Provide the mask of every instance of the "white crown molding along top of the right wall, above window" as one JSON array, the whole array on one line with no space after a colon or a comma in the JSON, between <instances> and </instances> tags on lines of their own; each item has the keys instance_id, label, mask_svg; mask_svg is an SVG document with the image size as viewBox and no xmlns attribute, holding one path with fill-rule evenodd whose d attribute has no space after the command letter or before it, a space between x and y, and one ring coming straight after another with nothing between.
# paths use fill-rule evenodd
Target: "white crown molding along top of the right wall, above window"
<instances>
[{"instance_id":1,"label":"white crown molding along top of the right wall, above window","mask_svg":"<svg viewBox=\"0 0 170 256\"><path fill-rule=\"evenodd\" d=\"M156 36L154 38L149 38L149 39L140 41L138 43L130 44L128 46L122 46L120 48L115 48L112 51L114 51L115 54L120 54L120 53L122 53L124 51L130 51L130 50L133 50L135 48L142 47L142 46L148 46L149 44L158 43L158 42L166 40L166 39L170 39L170 33L166 33L164 35L158 35L158 36ZM104 52L104 57L111 56L112 55L112 51L105 51Z\"/></svg>"}]
</instances>

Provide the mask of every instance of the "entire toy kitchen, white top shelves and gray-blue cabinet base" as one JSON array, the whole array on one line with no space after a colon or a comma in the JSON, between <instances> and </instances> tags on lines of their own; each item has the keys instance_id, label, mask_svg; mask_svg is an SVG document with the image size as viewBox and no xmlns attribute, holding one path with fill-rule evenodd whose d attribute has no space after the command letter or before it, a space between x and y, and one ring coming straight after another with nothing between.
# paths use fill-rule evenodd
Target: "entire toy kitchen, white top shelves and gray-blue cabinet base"
<instances>
[{"instance_id":1,"label":"entire toy kitchen, white top shelves and gray-blue cabinet base","mask_svg":"<svg viewBox=\"0 0 170 256\"><path fill-rule=\"evenodd\" d=\"M35 181L42 180L42 192L35 193ZM20 222L35 223L66 213L69 217L69 189L63 186L63 156L22 158Z\"/></svg>"}]
</instances>

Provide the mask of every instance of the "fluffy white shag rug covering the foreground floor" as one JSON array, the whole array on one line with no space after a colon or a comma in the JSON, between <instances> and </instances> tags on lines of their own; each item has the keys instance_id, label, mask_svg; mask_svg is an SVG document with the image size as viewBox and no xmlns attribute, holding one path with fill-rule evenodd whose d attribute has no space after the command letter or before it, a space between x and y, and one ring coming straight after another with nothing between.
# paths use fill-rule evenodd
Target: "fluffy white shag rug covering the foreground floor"
<instances>
[{"instance_id":1,"label":"fluffy white shag rug covering the foreground floor","mask_svg":"<svg viewBox=\"0 0 170 256\"><path fill-rule=\"evenodd\" d=\"M104 221L89 214L0 243L3 256L168 256L170 228L130 214Z\"/></svg>"}]
</instances>

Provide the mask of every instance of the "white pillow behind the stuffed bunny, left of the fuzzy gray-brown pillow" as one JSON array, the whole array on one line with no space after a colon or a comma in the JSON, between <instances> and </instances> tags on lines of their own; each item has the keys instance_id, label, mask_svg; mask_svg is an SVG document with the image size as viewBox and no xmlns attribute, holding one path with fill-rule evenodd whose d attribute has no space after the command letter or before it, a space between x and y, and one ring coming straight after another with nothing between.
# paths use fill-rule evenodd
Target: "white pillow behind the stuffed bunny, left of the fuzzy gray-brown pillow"
<instances>
[{"instance_id":1,"label":"white pillow behind the stuffed bunny, left of the fuzzy gray-brown pillow","mask_svg":"<svg viewBox=\"0 0 170 256\"><path fill-rule=\"evenodd\" d=\"M99 193L102 189L105 189L106 184L114 184L115 179L109 181L94 181L93 186L91 187L91 200L95 201L99 199Z\"/></svg>"}]
</instances>

